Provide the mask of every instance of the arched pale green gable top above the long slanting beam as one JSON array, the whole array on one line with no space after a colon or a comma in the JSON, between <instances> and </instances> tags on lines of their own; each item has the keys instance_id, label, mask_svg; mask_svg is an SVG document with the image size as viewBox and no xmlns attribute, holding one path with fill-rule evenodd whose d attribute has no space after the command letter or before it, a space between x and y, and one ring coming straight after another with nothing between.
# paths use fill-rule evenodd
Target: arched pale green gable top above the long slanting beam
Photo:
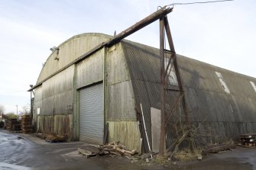
<instances>
[{"instance_id":1,"label":"arched pale green gable top above the long slanting beam","mask_svg":"<svg viewBox=\"0 0 256 170\"><path fill-rule=\"evenodd\" d=\"M74 60L111 38L112 36L106 34L86 33L78 34L64 41L47 58L37 79L37 85L44 82L44 79L47 79L50 75L65 69Z\"/></svg>"}]
</instances>

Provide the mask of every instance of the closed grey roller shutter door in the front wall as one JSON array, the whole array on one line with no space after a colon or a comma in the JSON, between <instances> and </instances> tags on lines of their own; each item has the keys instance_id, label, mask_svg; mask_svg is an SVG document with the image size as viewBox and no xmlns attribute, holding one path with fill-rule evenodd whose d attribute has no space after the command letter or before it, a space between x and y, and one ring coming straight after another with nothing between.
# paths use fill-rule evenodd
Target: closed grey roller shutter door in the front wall
<instances>
[{"instance_id":1,"label":"closed grey roller shutter door in the front wall","mask_svg":"<svg viewBox=\"0 0 256 170\"><path fill-rule=\"evenodd\" d=\"M79 140L102 144L104 134L103 85L79 90Z\"/></svg>"}]
</instances>

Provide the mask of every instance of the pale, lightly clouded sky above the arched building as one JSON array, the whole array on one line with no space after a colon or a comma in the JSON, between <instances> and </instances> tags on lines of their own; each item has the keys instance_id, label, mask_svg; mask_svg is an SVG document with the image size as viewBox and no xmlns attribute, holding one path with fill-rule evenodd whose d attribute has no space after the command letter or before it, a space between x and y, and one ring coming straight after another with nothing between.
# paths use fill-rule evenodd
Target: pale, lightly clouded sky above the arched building
<instances>
[{"instance_id":1,"label":"pale, lightly clouded sky above the arched building","mask_svg":"<svg viewBox=\"0 0 256 170\"><path fill-rule=\"evenodd\" d=\"M118 34L173 2L203 0L0 0L0 104L9 112L30 102L50 47L76 34ZM168 18L177 53L256 77L255 9L255 0L175 6ZM158 21L127 39L159 47Z\"/></svg>"}]
</instances>

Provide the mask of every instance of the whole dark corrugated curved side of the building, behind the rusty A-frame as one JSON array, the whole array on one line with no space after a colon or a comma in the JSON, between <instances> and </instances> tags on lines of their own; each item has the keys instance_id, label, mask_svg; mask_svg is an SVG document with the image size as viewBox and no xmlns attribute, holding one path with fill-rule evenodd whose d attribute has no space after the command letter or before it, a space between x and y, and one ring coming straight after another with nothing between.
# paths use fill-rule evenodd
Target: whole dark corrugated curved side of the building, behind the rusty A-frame
<instances>
[{"instance_id":1,"label":"whole dark corrugated curved side of the building, behind the rusty A-frame","mask_svg":"<svg viewBox=\"0 0 256 170\"><path fill-rule=\"evenodd\" d=\"M125 40L122 43L134 97L136 103L143 106L147 133L151 135L150 107L160 108L159 50ZM185 85L189 116L195 125L203 123L199 130L202 143L235 140L240 133L256 131L256 93L250 83L256 79L184 56L178 56L178 64ZM225 92L215 72L222 74L230 95ZM167 93L167 109L176 96L175 92ZM167 145L170 145L171 140L168 139L172 135L170 127L167 127Z\"/></svg>"}]
</instances>

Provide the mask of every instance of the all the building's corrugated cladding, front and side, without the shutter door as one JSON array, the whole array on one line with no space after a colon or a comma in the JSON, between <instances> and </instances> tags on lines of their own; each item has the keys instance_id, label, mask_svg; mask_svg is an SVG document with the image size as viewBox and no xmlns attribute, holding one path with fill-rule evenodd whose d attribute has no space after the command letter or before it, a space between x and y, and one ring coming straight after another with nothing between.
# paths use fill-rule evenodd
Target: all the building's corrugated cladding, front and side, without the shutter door
<instances>
[{"instance_id":1,"label":"all the building's corrugated cladding, front and side, without the shutter door","mask_svg":"<svg viewBox=\"0 0 256 170\"><path fill-rule=\"evenodd\" d=\"M104 34L82 34L62 43L59 54L56 51L47 59L37 83L109 38ZM134 107L140 110L139 105L142 104L147 133L151 138L150 107L160 108L158 55L159 50L155 48L124 40L110 47L106 53L99 50L77 66L70 66L54 75L35 89L34 121L38 121L38 129L72 136L76 90L99 83L105 77L105 120L110 124L110 140L122 139L128 148L139 149L141 143L138 139L141 136ZM56 56L59 60L54 59ZM203 122L200 133L205 134L206 142L256 131L256 92L251 85L251 82L256 84L256 79L183 56L178 57L178 62L191 120ZM223 90L215 72L222 74L230 95ZM167 93L167 109L176 96L175 92ZM40 108L39 117L37 108ZM68 126L68 129L62 130L60 127L63 126ZM124 131L134 139L127 140L126 134L122 133ZM169 134L171 132L167 132Z\"/></svg>"}]
</instances>

